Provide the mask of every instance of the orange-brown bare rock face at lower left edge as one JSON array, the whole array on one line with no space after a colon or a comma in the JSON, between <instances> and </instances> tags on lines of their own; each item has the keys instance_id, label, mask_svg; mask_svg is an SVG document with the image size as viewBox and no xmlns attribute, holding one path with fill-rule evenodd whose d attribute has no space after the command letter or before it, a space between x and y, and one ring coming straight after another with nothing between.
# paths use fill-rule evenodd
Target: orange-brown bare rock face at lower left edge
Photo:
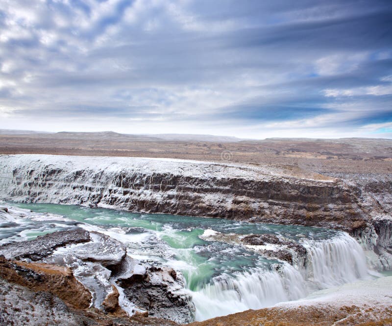
<instances>
[{"instance_id":1,"label":"orange-brown bare rock face at lower left edge","mask_svg":"<svg viewBox=\"0 0 392 326\"><path fill-rule=\"evenodd\" d=\"M33 291L50 292L76 309L88 308L91 303L90 292L66 267L6 260L0 256L0 277Z\"/></svg>"}]
</instances>

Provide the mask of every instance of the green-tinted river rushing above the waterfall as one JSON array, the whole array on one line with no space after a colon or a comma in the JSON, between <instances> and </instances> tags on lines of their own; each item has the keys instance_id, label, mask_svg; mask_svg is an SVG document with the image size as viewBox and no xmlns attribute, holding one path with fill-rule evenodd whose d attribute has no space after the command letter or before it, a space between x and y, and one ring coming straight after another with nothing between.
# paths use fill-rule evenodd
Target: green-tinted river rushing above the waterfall
<instances>
[{"instance_id":1,"label":"green-tinted river rushing above the waterfall","mask_svg":"<svg viewBox=\"0 0 392 326\"><path fill-rule=\"evenodd\" d=\"M200 236L207 229L223 234L239 235L273 233L295 241L302 237L323 239L336 234L331 230L303 226L247 223L228 219L164 214L137 214L74 205L20 203L14 205L34 212L48 212L61 217L57 221L53 217L50 221L43 218L41 221L35 220L22 226L1 230L1 238L32 239L38 235L76 227L78 222L96 226L111 232L111 236L121 236L120 240L125 243L132 243L132 248L128 249L131 256L136 258L159 256L163 262L174 265L183 272L187 286L191 290L199 289L209 283L212 277L222 273L245 272L255 267L269 270L272 264L277 263L239 245L205 241ZM114 234L113 228L121 228L121 232ZM156 247L153 241L150 241L150 245L135 245L135 242L148 237L156 237L160 243L156 244ZM157 250L159 247L161 247L160 251Z\"/></svg>"}]
</instances>

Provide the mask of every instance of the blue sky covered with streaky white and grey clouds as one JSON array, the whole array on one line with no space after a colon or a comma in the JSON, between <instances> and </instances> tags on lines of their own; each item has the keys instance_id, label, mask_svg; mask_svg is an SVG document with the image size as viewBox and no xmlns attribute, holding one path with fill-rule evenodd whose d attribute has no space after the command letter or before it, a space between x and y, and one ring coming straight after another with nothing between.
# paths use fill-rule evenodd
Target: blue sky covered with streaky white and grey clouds
<instances>
[{"instance_id":1,"label":"blue sky covered with streaky white and grey clouds","mask_svg":"<svg viewBox=\"0 0 392 326\"><path fill-rule=\"evenodd\" d=\"M392 1L0 0L0 122L392 138Z\"/></svg>"}]
</instances>

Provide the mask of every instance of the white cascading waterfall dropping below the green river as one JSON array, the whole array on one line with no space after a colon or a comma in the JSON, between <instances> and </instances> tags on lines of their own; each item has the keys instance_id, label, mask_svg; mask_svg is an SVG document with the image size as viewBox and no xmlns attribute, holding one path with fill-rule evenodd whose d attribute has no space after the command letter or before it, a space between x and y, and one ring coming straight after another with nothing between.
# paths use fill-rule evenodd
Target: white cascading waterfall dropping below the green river
<instances>
[{"instance_id":1,"label":"white cascading waterfall dropping below the green river","mask_svg":"<svg viewBox=\"0 0 392 326\"><path fill-rule=\"evenodd\" d=\"M196 320L261 309L368 277L364 251L347 233L320 241L304 240L303 245L307 254L305 265L299 270L284 263L273 271L254 269L232 276L224 274L193 292Z\"/></svg>"}]
</instances>

